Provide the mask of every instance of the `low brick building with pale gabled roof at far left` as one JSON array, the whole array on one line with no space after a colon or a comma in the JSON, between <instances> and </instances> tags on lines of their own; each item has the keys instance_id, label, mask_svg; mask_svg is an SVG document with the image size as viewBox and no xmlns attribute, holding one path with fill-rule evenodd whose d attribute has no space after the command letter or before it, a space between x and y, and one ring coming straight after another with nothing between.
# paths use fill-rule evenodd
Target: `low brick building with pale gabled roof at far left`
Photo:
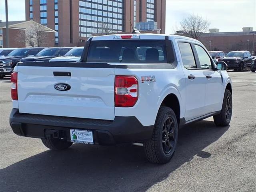
<instances>
[{"instance_id":1,"label":"low brick building with pale gabled roof at far left","mask_svg":"<svg viewBox=\"0 0 256 192\"><path fill-rule=\"evenodd\" d=\"M25 36L32 33L34 24L41 26L40 30L45 34L47 40L44 41L44 46L55 46L54 30L42 26L34 21L10 21L9 26L9 47L30 47L31 45L26 43ZM36 42L31 41L36 45ZM0 48L6 48L6 22L0 22Z\"/></svg>"}]
</instances>

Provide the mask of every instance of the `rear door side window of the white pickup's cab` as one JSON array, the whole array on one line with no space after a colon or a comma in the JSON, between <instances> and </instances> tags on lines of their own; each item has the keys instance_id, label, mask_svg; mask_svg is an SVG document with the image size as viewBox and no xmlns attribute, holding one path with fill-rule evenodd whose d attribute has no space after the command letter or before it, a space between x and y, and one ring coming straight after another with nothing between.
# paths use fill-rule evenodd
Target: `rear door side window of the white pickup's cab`
<instances>
[{"instance_id":1,"label":"rear door side window of the white pickup's cab","mask_svg":"<svg viewBox=\"0 0 256 192\"><path fill-rule=\"evenodd\" d=\"M179 42L183 66L187 69L196 68L196 62L190 43Z\"/></svg>"}]
</instances>

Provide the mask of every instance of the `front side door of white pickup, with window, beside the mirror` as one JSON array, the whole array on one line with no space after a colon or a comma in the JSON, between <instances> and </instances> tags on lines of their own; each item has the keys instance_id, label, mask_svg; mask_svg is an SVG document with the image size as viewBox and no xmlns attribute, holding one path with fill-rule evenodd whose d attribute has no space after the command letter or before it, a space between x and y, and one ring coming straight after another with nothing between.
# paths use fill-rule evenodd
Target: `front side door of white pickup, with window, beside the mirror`
<instances>
[{"instance_id":1,"label":"front side door of white pickup, with window, beside the mirror","mask_svg":"<svg viewBox=\"0 0 256 192\"><path fill-rule=\"evenodd\" d=\"M222 74L215 70L215 65L207 51L200 44L194 44L196 60L199 71L204 76L206 85L205 93L205 114L221 110L223 100L223 79Z\"/></svg>"}]
</instances>

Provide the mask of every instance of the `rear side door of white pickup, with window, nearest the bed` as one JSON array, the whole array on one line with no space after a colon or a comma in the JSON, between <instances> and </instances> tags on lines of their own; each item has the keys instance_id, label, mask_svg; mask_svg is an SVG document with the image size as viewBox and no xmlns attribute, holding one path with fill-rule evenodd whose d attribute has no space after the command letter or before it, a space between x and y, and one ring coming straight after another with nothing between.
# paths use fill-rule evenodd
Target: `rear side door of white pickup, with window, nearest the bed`
<instances>
[{"instance_id":1,"label":"rear side door of white pickup, with window, nearest the bed","mask_svg":"<svg viewBox=\"0 0 256 192\"><path fill-rule=\"evenodd\" d=\"M205 114L206 77L198 70L190 42L178 42L182 69L186 79L185 120L189 121Z\"/></svg>"}]
</instances>

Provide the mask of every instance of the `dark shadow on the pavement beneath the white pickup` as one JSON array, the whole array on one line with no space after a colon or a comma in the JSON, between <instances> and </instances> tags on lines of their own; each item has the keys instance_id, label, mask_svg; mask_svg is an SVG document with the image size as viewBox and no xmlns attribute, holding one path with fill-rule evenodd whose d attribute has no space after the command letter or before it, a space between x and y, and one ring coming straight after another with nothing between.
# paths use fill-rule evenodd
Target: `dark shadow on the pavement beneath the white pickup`
<instances>
[{"instance_id":1,"label":"dark shadow on the pavement beneath the white pickup","mask_svg":"<svg viewBox=\"0 0 256 192\"><path fill-rule=\"evenodd\" d=\"M204 148L226 130L207 120L181 128L176 153L164 165L148 163L143 147L136 145L74 144L64 151L48 150L2 169L0 188L2 192L146 191L194 156L210 158Z\"/></svg>"}]
</instances>

